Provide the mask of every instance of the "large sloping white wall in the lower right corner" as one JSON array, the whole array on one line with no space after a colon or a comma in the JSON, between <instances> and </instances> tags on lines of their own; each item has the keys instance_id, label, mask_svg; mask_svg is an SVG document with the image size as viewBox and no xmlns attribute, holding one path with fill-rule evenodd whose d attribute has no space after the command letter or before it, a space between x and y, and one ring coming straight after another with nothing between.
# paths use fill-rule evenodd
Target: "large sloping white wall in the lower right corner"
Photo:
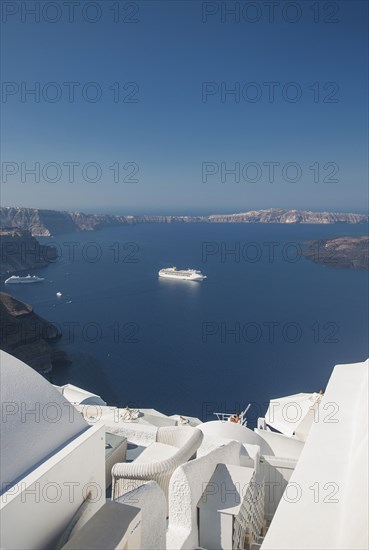
<instances>
[{"instance_id":1,"label":"large sloping white wall in the lower right corner","mask_svg":"<svg viewBox=\"0 0 369 550\"><path fill-rule=\"evenodd\" d=\"M368 549L368 369L334 368L263 550Z\"/></svg>"}]
</instances>

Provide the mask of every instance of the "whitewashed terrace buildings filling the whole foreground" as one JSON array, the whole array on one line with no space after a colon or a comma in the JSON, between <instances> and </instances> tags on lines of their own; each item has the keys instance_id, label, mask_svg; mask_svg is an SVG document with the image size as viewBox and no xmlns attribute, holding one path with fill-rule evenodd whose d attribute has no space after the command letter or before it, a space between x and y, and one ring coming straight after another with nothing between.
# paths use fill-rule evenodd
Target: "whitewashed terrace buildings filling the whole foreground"
<instances>
[{"instance_id":1,"label":"whitewashed terrace buildings filling the whole foreground","mask_svg":"<svg viewBox=\"0 0 369 550\"><path fill-rule=\"evenodd\" d=\"M368 361L335 367L299 439L283 415L109 407L0 360L2 548L368 548Z\"/></svg>"}]
</instances>

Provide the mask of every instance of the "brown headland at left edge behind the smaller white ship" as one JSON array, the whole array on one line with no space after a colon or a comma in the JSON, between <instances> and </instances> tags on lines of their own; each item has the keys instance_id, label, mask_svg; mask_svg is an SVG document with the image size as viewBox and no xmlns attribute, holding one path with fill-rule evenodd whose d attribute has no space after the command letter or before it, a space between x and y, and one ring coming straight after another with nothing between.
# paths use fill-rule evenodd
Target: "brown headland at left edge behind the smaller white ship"
<instances>
[{"instance_id":1,"label":"brown headland at left edge behind the smaller white ship","mask_svg":"<svg viewBox=\"0 0 369 550\"><path fill-rule=\"evenodd\" d=\"M0 275L45 267L56 255L54 248L41 245L29 231L0 229Z\"/></svg>"}]
</instances>

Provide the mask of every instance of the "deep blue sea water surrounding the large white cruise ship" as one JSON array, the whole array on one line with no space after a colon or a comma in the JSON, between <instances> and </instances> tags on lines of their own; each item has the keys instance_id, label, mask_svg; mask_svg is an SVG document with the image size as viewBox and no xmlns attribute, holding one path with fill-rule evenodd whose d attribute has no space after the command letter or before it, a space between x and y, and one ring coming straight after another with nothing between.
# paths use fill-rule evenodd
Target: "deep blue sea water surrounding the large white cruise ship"
<instances>
[{"instance_id":1,"label":"deep blue sea water surrounding the large white cruise ship","mask_svg":"<svg viewBox=\"0 0 369 550\"><path fill-rule=\"evenodd\" d=\"M253 424L270 398L324 389L335 364L368 357L368 272L298 254L303 241L365 231L153 224L68 234L40 239L60 255L35 271L44 283L2 289L63 330L58 346L73 362L54 370L55 383L203 420L252 402ZM208 278L159 279L172 265Z\"/></svg>"}]
</instances>

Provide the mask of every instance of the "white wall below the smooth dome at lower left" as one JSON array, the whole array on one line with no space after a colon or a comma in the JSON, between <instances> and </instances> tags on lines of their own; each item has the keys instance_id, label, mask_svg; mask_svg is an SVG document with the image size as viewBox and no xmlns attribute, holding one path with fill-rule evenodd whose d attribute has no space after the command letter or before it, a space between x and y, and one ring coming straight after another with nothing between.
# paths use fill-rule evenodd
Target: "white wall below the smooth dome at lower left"
<instances>
[{"instance_id":1,"label":"white wall below the smooth dome at lower left","mask_svg":"<svg viewBox=\"0 0 369 550\"><path fill-rule=\"evenodd\" d=\"M42 550L55 547L91 489L86 521L105 502L105 430L86 432L3 493L1 548Z\"/></svg>"}]
</instances>

